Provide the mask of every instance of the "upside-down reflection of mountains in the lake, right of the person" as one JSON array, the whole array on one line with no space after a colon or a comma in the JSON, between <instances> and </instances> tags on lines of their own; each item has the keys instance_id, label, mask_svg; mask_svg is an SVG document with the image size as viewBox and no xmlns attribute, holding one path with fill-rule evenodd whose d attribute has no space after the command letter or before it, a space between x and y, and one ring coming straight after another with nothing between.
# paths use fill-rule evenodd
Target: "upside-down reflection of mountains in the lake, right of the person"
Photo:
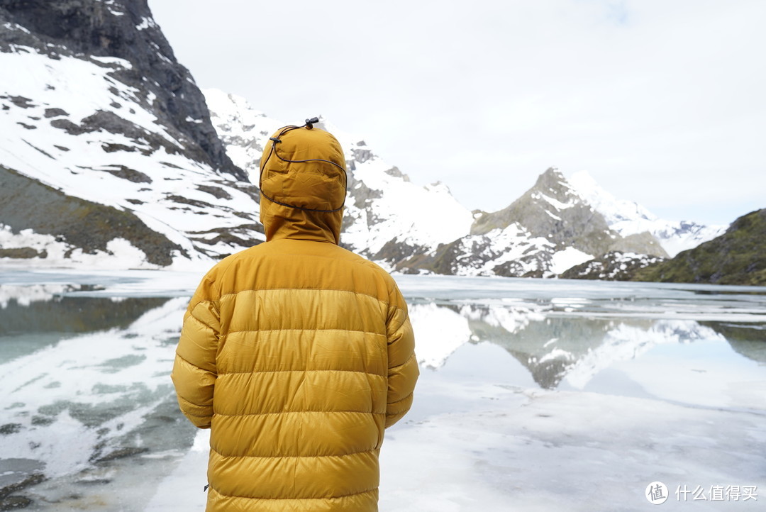
<instances>
[{"instance_id":1,"label":"upside-down reflection of mountains in the lake, right of the person","mask_svg":"<svg viewBox=\"0 0 766 512\"><path fill-rule=\"evenodd\" d=\"M424 307L428 306L414 305L413 316L418 318L418 309ZM473 305L437 308L451 311L466 322L466 333L470 334L465 343L489 342L502 347L545 389L555 389L566 376L588 380L616 361L640 357L654 345L664 343L721 341L748 359L766 363L764 330L758 325L647 318L541 317L534 311L518 310L509 325L500 321L498 315L499 311L507 313L508 308ZM433 309L427 314L434 315ZM437 357L436 362L431 361L427 366L438 368L450 355L441 354L441 358Z\"/></svg>"}]
</instances>

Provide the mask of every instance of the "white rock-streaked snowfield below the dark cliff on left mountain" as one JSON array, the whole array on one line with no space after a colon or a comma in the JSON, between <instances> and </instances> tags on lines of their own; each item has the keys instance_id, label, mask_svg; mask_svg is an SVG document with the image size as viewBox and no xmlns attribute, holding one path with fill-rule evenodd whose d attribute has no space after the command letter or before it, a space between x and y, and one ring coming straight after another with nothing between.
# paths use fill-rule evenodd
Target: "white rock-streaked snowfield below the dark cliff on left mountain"
<instances>
[{"instance_id":1,"label":"white rock-streaked snowfield below the dark cliff on left mountain","mask_svg":"<svg viewBox=\"0 0 766 512\"><path fill-rule=\"evenodd\" d=\"M2 69L28 70L2 83L0 163L67 195L133 211L191 259L231 252L225 244L201 244L221 228L254 223L254 198L241 190L247 185L182 153L181 142L156 124L138 91L111 77L129 66L118 59L53 60L25 48L0 53ZM29 100L15 100L20 97ZM80 132L77 126L94 115L119 119L135 137L101 128ZM252 227L243 229L245 237L257 238ZM51 241L48 250L51 259L63 259L67 247ZM124 263L142 265L140 256Z\"/></svg>"}]
</instances>

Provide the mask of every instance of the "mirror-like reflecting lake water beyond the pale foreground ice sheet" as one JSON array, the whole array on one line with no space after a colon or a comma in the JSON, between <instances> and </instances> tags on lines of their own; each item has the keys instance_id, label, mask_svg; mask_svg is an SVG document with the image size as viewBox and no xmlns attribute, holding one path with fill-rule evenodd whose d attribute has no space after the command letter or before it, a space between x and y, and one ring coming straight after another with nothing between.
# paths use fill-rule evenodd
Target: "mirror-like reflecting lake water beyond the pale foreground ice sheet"
<instances>
[{"instance_id":1,"label":"mirror-like reflecting lake water beyond the pale foreground ice sheet","mask_svg":"<svg viewBox=\"0 0 766 512\"><path fill-rule=\"evenodd\" d=\"M144 510L195 440L169 373L198 277L0 272L0 510ZM486 386L766 418L764 288L397 280L422 373L397 429L486 408Z\"/></svg>"}]
</instances>

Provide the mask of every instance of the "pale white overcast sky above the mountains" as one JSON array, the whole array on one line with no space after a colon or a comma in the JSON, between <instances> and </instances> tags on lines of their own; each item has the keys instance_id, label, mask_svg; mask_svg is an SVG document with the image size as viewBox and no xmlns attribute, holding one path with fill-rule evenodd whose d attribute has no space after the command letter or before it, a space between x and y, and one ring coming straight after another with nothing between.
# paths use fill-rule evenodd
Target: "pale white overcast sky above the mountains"
<instances>
[{"instance_id":1,"label":"pale white overcast sky above the mountains","mask_svg":"<svg viewBox=\"0 0 766 512\"><path fill-rule=\"evenodd\" d=\"M670 220L766 207L763 0L149 0L202 88L321 114L499 210L556 167Z\"/></svg>"}]
</instances>

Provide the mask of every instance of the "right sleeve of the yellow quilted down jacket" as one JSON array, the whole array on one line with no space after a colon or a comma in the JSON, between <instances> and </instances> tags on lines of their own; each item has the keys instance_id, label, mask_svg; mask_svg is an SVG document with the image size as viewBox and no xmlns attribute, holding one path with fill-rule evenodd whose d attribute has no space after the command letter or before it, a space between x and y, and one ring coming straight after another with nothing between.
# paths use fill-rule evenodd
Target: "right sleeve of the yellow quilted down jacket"
<instances>
[{"instance_id":1,"label":"right sleeve of the yellow quilted down jacket","mask_svg":"<svg viewBox=\"0 0 766 512\"><path fill-rule=\"evenodd\" d=\"M385 413L386 428L398 422L412 406L412 395L420 370L415 357L415 338L407 312L394 308L388 321L388 405Z\"/></svg>"}]
</instances>

